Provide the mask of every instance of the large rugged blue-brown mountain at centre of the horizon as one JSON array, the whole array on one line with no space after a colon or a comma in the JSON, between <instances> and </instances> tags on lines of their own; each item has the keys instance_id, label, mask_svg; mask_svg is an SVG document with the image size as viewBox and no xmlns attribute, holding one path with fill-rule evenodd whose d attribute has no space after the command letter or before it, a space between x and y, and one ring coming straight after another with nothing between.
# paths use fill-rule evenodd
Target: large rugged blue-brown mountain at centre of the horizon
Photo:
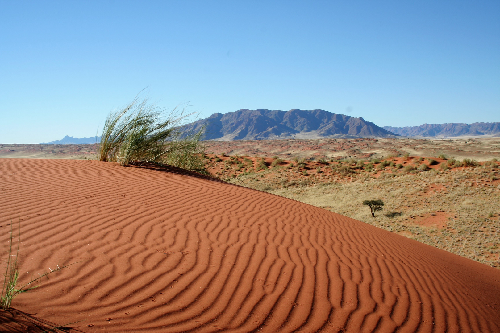
<instances>
[{"instance_id":1,"label":"large rugged blue-brown mountain at centre of the horizon","mask_svg":"<svg viewBox=\"0 0 500 333\"><path fill-rule=\"evenodd\" d=\"M396 137L372 122L324 110L248 110L214 113L184 125L199 131L205 125L203 140L264 140L321 138Z\"/></svg>"}]
</instances>

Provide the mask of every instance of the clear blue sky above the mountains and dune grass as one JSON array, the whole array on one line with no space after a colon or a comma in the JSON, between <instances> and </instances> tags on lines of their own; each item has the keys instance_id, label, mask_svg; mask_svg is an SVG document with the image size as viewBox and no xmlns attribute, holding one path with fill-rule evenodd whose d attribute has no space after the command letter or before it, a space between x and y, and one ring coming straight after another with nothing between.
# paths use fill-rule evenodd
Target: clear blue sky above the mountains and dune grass
<instances>
[{"instance_id":1,"label":"clear blue sky above the mountains and dune grass","mask_svg":"<svg viewBox=\"0 0 500 333\"><path fill-rule=\"evenodd\" d=\"M147 87L205 118L500 121L500 1L0 1L0 142L95 135Z\"/></svg>"}]
</instances>

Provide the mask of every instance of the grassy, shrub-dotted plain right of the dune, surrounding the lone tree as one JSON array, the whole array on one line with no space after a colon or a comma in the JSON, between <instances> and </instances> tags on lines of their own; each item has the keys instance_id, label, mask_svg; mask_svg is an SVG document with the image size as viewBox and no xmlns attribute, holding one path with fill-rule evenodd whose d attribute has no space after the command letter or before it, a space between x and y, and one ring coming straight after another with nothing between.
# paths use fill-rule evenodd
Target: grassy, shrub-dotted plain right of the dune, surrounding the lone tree
<instances>
[{"instance_id":1,"label":"grassy, shrub-dotted plain right of the dune, surrounding the lone tree","mask_svg":"<svg viewBox=\"0 0 500 333\"><path fill-rule=\"evenodd\" d=\"M261 159L254 159L253 165L259 164ZM274 169L269 162L258 174L240 174L238 179L244 183L238 180L237 184L322 207L499 267L500 222L495 202L500 199L497 180L500 163L476 162L476 166L464 166L461 161L450 158L439 165L427 166L429 170L422 172L418 167L426 164L421 163L423 158L420 163L418 159L408 157L404 164L396 159L394 167L374 169L369 165L376 166L375 162L383 160L364 162L364 168L358 168L361 166L359 160L338 160L323 165L319 160L297 158L295 165L288 165L290 168ZM390 162L392 159L387 166ZM224 168L230 165L231 169L226 172L237 166L237 163L219 164ZM397 164L404 166L399 169ZM309 170L318 167L321 173L310 173ZM385 209L390 211L367 218L360 193L379 197ZM433 219L437 222L432 222ZM490 249L486 251L485 245Z\"/></svg>"}]
</instances>

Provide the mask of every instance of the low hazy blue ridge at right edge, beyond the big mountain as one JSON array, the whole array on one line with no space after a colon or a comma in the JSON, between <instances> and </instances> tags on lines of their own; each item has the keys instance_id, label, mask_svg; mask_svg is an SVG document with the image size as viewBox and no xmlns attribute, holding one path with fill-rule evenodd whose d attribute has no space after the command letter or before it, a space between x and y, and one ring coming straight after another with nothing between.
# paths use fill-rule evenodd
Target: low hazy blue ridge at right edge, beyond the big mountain
<instances>
[{"instance_id":1,"label":"low hazy blue ridge at right edge, beyond the big mountain","mask_svg":"<svg viewBox=\"0 0 500 333\"><path fill-rule=\"evenodd\" d=\"M384 126L383 128L401 136L500 136L500 122L476 122L473 124L423 124L420 126L408 127Z\"/></svg>"}]
</instances>

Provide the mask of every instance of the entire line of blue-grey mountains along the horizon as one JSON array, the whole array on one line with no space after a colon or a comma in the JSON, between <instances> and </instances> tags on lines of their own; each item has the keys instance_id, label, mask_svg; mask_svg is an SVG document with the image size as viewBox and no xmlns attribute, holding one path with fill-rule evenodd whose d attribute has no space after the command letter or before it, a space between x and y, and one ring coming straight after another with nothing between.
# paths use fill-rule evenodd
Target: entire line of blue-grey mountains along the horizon
<instances>
[{"instance_id":1,"label":"entire line of blue-grey mountains along the horizon","mask_svg":"<svg viewBox=\"0 0 500 333\"><path fill-rule=\"evenodd\" d=\"M321 138L394 138L394 137L500 137L500 122L473 124L423 124L407 127L378 127L363 118L325 110L249 110L214 113L208 118L181 126L181 131L196 133L204 127L202 140L265 140ZM100 137L64 136L42 144L89 144Z\"/></svg>"}]
</instances>

